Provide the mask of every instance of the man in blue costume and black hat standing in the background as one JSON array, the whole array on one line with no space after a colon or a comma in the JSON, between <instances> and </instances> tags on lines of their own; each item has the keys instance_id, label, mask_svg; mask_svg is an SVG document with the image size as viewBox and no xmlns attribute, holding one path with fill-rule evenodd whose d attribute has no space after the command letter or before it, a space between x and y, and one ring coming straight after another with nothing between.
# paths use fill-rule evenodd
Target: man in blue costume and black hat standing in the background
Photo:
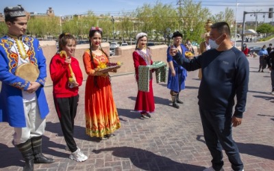
<instances>
[{"instance_id":1,"label":"man in blue costume and black hat standing in the background","mask_svg":"<svg viewBox=\"0 0 274 171\"><path fill-rule=\"evenodd\" d=\"M176 31L173 33L173 47L177 48L179 50L179 53L182 54L184 57L184 53L188 51L186 47L182 44L182 38L183 35L179 32ZM179 105L177 103L183 103L179 99L179 92L181 90L184 90L185 88L185 81L186 81L186 76L187 72L186 70L177 64L177 62L173 59L173 57L169 54L169 47L167 49L167 59L166 61L169 64L169 76L168 76L168 81L167 81L167 88L171 90L171 101L172 101L172 106L179 109Z\"/></svg>"}]
</instances>

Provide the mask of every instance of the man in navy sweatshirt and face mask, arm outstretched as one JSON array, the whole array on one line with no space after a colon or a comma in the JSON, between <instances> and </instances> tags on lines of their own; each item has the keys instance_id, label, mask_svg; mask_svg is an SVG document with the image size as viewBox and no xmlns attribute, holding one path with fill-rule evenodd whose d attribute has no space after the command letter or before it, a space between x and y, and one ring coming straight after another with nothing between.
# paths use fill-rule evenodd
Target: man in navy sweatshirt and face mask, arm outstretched
<instances>
[{"instance_id":1,"label":"man in navy sweatshirt and face mask, arm outstretched","mask_svg":"<svg viewBox=\"0 0 274 171\"><path fill-rule=\"evenodd\" d=\"M210 27L210 50L192 60L179 55L177 49L169 52L186 70L202 70L198 105L206 145L212 155L212 167L205 171L223 170L222 148L232 169L242 171L244 166L232 139L232 127L241 124L245 111L249 63L245 54L232 46L227 23L214 23ZM236 106L232 114L235 95Z\"/></svg>"}]
</instances>

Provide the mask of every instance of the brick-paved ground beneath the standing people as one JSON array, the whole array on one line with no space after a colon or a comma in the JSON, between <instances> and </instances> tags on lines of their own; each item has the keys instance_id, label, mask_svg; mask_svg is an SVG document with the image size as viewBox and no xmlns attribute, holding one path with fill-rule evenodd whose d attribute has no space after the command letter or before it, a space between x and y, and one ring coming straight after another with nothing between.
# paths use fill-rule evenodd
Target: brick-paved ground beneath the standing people
<instances>
[{"instance_id":1,"label":"brick-paved ground beneath the standing people","mask_svg":"<svg viewBox=\"0 0 274 171\"><path fill-rule=\"evenodd\" d=\"M233 129L247 170L274 170L274 96L269 73L258 73L258 57L249 59L250 81L247 109L242 124ZM132 65L133 67L133 65ZM166 83L153 82L155 114L140 120L134 109L137 85L134 74L112 77L112 90L119 111L121 129L109 140L98 141L85 133L84 87L75 118L75 140L88 160L78 163L64 150L52 87L45 88L50 107L43 136L43 152L55 163L35 164L35 170L203 170L211 166L211 156L203 139L197 106L197 71L188 73L180 109L171 107ZM13 129L0 123L0 170L22 170L21 153L12 145ZM224 153L225 170L232 170Z\"/></svg>"}]
</instances>

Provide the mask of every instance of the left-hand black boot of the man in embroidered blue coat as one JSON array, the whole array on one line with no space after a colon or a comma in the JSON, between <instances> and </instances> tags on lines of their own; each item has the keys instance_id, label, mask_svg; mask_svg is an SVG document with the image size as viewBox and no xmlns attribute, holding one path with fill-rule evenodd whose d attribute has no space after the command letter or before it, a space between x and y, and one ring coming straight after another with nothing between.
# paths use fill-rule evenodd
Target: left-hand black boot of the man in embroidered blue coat
<instances>
[{"instance_id":1,"label":"left-hand black boot of the man in embroidered blue coat","mask_svg":"<svg viewBox=\"0 0 274 171\"><path fill-rule=\"evenodd\" d=\"M27 142L16 145L20 150L23 158L25 159L25 166L23 171L33 171L34 170L34 152L32 150L32 140L29 139Z\"/></svg>"}]
</instances>

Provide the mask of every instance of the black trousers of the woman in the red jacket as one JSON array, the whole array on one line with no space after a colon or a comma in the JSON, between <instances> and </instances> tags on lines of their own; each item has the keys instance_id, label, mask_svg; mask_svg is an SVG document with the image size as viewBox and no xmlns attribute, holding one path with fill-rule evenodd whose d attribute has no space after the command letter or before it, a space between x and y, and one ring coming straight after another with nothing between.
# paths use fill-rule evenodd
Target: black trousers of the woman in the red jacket
<instances>
[{"instance_id":1,"label":"black trousers of the woman in the red jacket","mask_svg":"<svg viewBox=\"0 0 274 171\"><path fill-rule=\"evenodd\" d=\"M76 142L73 138L74 118L77 113L79 95L68 98L54 98L54 105L60 120L64 140L71 152L77 150Z\"/></svg>"}]
</instances>

